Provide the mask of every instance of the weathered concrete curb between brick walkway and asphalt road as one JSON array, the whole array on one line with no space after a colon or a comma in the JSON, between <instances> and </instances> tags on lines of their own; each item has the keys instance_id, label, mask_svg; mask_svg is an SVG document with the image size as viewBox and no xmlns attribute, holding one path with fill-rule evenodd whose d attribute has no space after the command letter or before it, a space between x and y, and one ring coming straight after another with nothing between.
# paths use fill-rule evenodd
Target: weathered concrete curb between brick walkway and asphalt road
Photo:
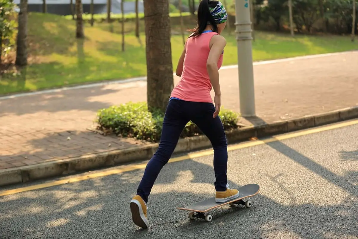
<instances>
[{"instance_id":1,"label":"weathered concrete curb between brick walkway and asphalt road","mask_svg":"<svg viewBox=\"0 0 358 239\"><path fill-rule=\"evenodd\" d=\"M307 115L301 118L279 121L272 124L247 126L226 132L228 143L248 140L251 137L267 137L315 126L336 123L358 118L358 106L330 111L318 115ZM185 153L191 150L210 148L210 141L204 136L180 139L174 153ZM148 144L127 149L112 150L105 153L87 154L77 158L40 163L32 166L0 170L0 186L34 180L65 176L101 167L116 166L137 160L150 159L158 144Z\"/></svg>"}]
</instances>

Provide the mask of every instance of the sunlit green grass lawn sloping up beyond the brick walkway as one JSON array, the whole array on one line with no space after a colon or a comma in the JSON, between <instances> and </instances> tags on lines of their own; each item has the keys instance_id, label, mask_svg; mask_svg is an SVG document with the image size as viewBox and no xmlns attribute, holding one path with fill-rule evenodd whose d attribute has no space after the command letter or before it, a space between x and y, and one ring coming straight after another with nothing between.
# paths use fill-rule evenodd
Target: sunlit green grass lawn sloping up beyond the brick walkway
<instances>
[{"instance_id":1,"label":"sunlit green grass lawn sloping up beyond the brick walkway","mask_svg":"<svg viewBox=\"0 0 358 239\"><path fill-rule=\"evenodd\" d=\"M74 21L50 14L29 14L30 65L20 75L4 74L0 79L0 94L145 76L145 46L140 46L130 32L125 37L126 51L122 52L120 25L111 26L114 33L108 30L109 25L86 25L86 39L77 40ZM141 34L145 43L144 33ZM224 65L237 64L236 39L234 35L226 37ZM171 44L175 70L183 49L181 36L173 35ZM252 44L254 61L358 49L349 37L297 35L291 38L265 32L256 32Z\"/></svg>"}]
</instances>

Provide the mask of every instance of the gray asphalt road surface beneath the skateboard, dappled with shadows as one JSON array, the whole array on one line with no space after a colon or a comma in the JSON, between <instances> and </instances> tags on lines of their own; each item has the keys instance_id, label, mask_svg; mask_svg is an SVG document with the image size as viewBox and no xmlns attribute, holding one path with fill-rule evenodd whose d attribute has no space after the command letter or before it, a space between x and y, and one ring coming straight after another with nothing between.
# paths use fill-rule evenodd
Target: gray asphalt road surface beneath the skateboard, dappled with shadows
<instances>
[{"instance_id":1,"label":"gray asphalt road surface beneath the skateboard, dappled with shadows","mask_svg":"<svg viewBox=\"0 0 358 239\"><path fill-rule=\"evenodd\" d=\"M143 169L0 197L1 239L357 238L358 125L229 151L231 188L257 183L253 205L211 222L176 210L213 197L213 156L167 164L149 198L149 229L129 201Z\"/></svg>"}]
</instances>

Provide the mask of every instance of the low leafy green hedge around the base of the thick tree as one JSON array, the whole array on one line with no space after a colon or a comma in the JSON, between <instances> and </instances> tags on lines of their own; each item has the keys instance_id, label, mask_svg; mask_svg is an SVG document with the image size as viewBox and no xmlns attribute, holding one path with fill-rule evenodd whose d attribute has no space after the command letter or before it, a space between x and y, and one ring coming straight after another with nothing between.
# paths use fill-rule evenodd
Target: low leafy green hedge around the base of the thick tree
<instances>
[{"instance_id":1,"label":"low leafy green hedge around the base of the thick tree","mask_svg":"<svg viewBox=\"0 0 358 239\"><path fill-rule=\"evenodd\" d=\"M219 117L225 130L236 129L239 114L221 109ZM122 104L101 109L97 113L98 129L109 131L123 137L132 137L150 142L158 142L164 114L160 111L150 113L146 102ZM185 126L181 137L203 134L191 121Z\"/></svg>"}]
</instances>

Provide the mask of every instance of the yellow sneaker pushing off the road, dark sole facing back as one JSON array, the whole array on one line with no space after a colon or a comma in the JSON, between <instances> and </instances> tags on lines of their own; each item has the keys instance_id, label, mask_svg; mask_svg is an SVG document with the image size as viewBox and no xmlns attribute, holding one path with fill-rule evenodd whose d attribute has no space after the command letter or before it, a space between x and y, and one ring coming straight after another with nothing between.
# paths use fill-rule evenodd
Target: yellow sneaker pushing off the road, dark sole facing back
<instances>
[{"instance_id":1,"label":"yellow sneaker pushing off the road, dark sole facing back","mask_svg":"<svg viewBox=\"0 0 358 239\"><path fill-rule=\"evenodd\" d=\"M149 221L147 219L147 204L141 198L141 196L136 195L130 202L132 220L134 224L140 226L141 228L148 228Z\"/></svg>"}]
</instances>

